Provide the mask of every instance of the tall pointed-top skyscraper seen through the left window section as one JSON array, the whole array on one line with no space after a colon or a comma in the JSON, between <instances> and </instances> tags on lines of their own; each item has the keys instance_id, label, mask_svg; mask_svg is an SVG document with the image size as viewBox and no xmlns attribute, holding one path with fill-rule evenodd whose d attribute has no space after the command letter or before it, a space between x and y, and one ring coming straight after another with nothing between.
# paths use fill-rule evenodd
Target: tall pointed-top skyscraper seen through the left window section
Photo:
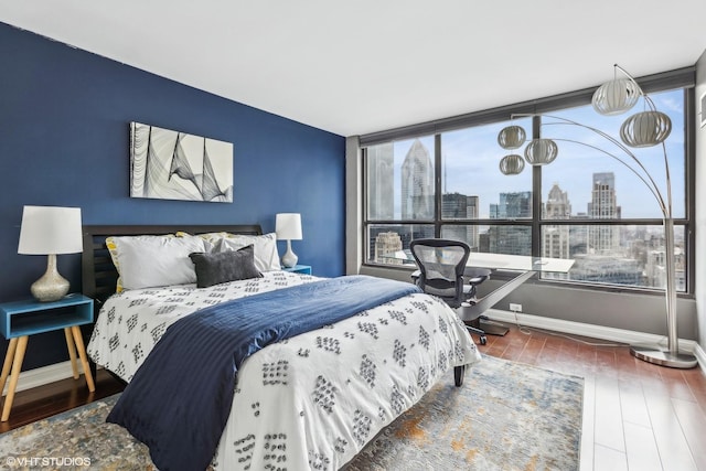
<instances>
[{"instance_id":1,"label":"tall pointed-top skyscraper seen through the left window section","mask_svg":"<svg viewBox=\"0 0 706 471\"><path fill-rule=\"evenodd\" d=\"M402 218L434 218L434 163L419 139L415 139L402 164Z\"/></svg>"}]
</instances>

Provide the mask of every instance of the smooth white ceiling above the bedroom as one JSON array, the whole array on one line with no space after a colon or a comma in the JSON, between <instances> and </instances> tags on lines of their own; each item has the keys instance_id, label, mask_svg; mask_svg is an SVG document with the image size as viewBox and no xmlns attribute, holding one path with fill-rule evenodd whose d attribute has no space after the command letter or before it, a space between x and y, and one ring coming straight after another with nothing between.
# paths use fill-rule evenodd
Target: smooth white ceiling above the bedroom
<instances>
[{"instance_id":1,"label":"smooth white ceiling above the bedroom","mask_svg":"<svg viewBox=\"0 0 706 471\"><path fill-rule=\"evenodd\" d=\"M704 0L0 0L0 21L342 136L706 50Z\"/></svg>"}]
</instances>

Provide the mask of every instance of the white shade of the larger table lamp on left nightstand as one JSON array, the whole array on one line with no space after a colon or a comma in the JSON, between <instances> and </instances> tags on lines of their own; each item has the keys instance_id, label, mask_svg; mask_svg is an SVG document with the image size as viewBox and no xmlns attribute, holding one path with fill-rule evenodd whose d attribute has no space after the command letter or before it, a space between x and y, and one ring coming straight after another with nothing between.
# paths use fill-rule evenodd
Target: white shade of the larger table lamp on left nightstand
<instances>
[{"instance_id":1,"label":"white shade of the larger table lamp on left nightstand","mask_svg":"<svg viewBox=\"0 0 706 471\"><path fill-rule=\"evenodd\" d=\"M24 206L18 254L83 251L81 207Z\"/></svg>"}]
</instances>

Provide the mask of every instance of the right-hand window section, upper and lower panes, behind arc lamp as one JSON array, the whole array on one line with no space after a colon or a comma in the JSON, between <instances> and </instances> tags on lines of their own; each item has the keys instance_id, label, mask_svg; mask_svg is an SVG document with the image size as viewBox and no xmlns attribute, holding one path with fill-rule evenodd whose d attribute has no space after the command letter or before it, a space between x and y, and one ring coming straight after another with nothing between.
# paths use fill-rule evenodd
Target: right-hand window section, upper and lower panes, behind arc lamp
<instances>
[{"instance_id":1,"label":"right-hand window section, upper and lower panes, behind arc lamp","mask_svg":"<svg viewBox=\"0 0 706 471\"><path fill-rule=\"evenodd\" d=\"M684 90L651 94L657 109L672 120L665 141L672 185L675 227L677 288L686 290L684 254L686 227L686 154ZM632 170L637 162L620 148L588 128L566 125L569 119L611 136L619 136L625 116L605 117L590 105L563 109L542 117L542 135L559 146L559 157L542 168L542 255L571 258L575 265L566 279L607 285L662 288L664 275L664 228L657 195ZM553 117L557 117L553 118ZM660 146L631 149L659 192L667 197L664 152ZM620 160L618 160L620 159ZM623 163L624 162L624 163ZM601 225L599 220L621 224Z\"/></svg>"}]
</instances>

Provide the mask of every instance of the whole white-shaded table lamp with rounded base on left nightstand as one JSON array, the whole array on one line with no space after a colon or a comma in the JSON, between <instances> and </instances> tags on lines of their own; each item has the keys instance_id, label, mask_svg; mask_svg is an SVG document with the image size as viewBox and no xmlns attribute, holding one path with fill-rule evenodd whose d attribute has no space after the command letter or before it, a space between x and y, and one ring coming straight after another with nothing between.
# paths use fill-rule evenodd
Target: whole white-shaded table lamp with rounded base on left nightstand
<instances>
[{"instance_id":1,"label":"whole white-shaded table lamp with rounded base on left nightstand","mask_svg":"<svg viewBox=\"0 0 706 471\"><path fill-rule=\"evenodd\" d=\"M30 288L36 300L56 301L68 292L68 281L56 269L56 255L79 251L79 207L24 206L18 254L47 256L46 272Z\"/></svg>"}]
</instances>

